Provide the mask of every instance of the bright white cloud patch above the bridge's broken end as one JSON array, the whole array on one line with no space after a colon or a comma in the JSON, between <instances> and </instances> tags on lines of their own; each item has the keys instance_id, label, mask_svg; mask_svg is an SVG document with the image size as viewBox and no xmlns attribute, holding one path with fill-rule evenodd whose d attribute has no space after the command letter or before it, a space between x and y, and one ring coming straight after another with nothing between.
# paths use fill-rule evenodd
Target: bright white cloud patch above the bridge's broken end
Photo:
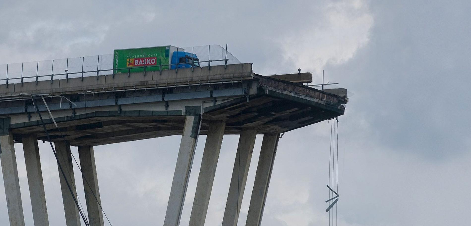
<instances>
[{"instance_id":1,"label":"bright white cloud patch above the bridge's broken end","mask_svg":"<svg viewBox=\"0 0 471 226\"><path fill-rule=\"evenodd\" d=\"M346 62L369 41L374 19L363 0L330 2L321 15L278 40L284 59L303 70L320 71L328 62Z\"/></svg>"}]
</instances>

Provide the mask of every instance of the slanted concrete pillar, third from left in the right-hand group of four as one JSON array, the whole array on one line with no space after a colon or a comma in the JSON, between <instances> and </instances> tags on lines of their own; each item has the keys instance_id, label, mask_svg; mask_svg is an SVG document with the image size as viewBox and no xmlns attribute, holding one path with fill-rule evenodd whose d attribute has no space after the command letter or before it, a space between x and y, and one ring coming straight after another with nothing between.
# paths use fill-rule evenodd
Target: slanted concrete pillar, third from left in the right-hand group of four
<instances>
[{"instance_id":1,"label":"slanted concrete pillar, third from left in the right-hand group of four","mask_svg":"<svg viewBox=\"0 0 471 226\"><path fill-rule=\"evenodd\" d=\"M222 226L237 225L256 135L255 130L244 130L240 134Z\"/></svg>"}]
</instances>

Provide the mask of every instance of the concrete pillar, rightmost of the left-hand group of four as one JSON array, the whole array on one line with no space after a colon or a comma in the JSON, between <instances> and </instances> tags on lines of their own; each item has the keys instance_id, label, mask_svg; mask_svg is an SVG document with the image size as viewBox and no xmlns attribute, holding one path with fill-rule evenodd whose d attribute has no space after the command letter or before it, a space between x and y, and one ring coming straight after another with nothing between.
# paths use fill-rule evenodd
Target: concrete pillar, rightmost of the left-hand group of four
<instances>
[{"instance_id":1,"label":"concrete pillar, rightmost of the left-hand group of four","mask_svg":"<svg viewBox=\"0 0 471 226\"><path fill-rule=\"evenodd\" d=\"M97 167L95 166L95 152L92 146L79 146L78 149L90 226L104 226L103 212L100 207Z\"/></svg>"}]
</instances>

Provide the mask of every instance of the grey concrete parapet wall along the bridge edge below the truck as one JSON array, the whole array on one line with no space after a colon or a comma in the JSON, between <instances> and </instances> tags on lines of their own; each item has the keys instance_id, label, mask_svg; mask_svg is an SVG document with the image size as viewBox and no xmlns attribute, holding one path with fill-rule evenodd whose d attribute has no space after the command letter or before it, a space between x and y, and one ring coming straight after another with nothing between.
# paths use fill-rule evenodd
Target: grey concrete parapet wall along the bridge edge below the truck
<instances>
[{"instance_id":1,"label":"grey concrete parapet wall along the bridge edge below the truck","mask_svg":"<svg viewBox=\"0 0 471 226\"><path fill-rule=\"evenodd\" d=\"M230 82L252 79L252 64L240 63L203 67L194 70L162 70L134 73L119 73L107 76L55 79L25 82L23 84L0 85L0 97L26 94L73 94L81 91L105 91L144 87L165 87L178 85Z\"/></svg>"}]
</instances>

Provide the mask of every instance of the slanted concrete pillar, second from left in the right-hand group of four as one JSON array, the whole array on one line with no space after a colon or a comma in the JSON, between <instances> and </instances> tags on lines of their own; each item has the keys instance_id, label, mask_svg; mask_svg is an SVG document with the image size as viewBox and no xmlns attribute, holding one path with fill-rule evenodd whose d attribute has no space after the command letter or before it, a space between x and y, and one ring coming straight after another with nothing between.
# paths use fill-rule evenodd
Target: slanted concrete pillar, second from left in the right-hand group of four
<instances>
[{"instance_id":1,"label":"slanted concrete pillar, second from left in the right-hand group of four","mask_svg":"<svg viewBox=\"0 0 471 226\"><path fill-rule=\"evenodd\" d=\"M225 121L211 122L209 124L189 226L204 226L225 127Z\"/></svg>"}]
</instances>

